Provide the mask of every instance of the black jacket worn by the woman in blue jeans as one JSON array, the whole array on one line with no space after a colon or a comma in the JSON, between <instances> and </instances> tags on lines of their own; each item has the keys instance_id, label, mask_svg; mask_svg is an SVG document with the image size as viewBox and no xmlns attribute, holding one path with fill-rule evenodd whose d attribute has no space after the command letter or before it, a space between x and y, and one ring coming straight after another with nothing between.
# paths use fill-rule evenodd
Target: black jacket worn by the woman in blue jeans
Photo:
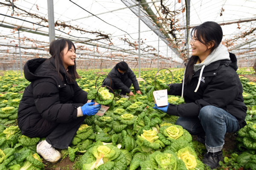
<instances>
[{"instance_id":1,"label":"black jacket worn by the woman in blue jeans","mask_svg":"<svg viewBox=\"0 0 256 170\"><path fill-rule=\"evenodd\" d=\"M195 72L189 85L184 85L185 104L169 104L168 114L182 117L198 116L201 108L213 105L222 108L236 117L240 127L244 127L247 107L242 96L243 88L236 73L236 56L230 53L230 60L223 59L207 65L202 74L201 69ZM201 81L197 92L194 92L198 81ZM182 83L173 84L169 95L181 96Z\"/></svg>"}]
</instances>

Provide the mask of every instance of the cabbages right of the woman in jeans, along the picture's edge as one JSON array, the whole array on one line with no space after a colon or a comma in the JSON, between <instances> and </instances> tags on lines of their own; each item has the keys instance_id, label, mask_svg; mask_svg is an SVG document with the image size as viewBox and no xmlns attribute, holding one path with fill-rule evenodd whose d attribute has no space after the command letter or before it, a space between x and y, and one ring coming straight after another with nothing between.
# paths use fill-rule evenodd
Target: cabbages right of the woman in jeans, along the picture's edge
<instances>
[{"instance_id":1,"label":"cabbages right of the woman in jeans, along the picture's edge","mask_svg":"<svg viewBox=\"0 0 256 170\"><path fill-rule=\"evenodd\" d=\"M243 72L245 74L245 72ZM238 131L236 138L237 148L240 154L233 153L231 158L224 158L224 163L235 162L236 168L256 170L256 83L250 82L248 78L240 76L243 85L244 103L247 105L246 126ZM232 163L231 163L232 164Z\"/></svg>"}]
</instances>

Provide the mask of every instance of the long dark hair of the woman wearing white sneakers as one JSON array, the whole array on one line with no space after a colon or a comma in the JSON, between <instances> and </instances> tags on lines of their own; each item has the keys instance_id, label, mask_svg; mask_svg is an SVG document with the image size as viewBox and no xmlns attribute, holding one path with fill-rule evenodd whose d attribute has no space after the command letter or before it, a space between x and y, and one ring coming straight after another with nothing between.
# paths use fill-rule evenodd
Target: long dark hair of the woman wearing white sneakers
<instances>
[{"instance_id":1,"label":"long dark hair of the woman wearing white sneakers","mask_svg":"<svg viewBox=\"0 0 256 170\"><path fill-rule=\"evenodd\" d=\"M69 51L72 48L72 46L76 51L76 47L74 43L65 38L58 38L57 40L53 40L50 43L49 53L52 55L52 57L50 57L49 60L54 58L56 71L62 81L64 80L64 78L63 78L63 75L61 74L61 70L66 71L64 68L63 59L62 59L62 57L64 56L63 52L66 47L68 48L68 51ZM69 82L74 82L76 81L76 79L80 78L78 73L76 72L76 60L75 60L75 65L68 66L68 71L66 71L66 73L67 73L67 79Z\"/></svg>"}]
</instances>

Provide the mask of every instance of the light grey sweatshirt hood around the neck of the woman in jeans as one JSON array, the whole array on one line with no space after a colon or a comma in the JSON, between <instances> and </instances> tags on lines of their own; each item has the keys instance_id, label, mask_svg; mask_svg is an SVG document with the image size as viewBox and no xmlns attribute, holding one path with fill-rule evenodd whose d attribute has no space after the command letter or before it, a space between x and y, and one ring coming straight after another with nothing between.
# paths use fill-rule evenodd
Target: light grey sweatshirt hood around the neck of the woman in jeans
<instances>
[{"instance_id":1,"label":"light grey sweatshirt hood around the neck of the woman in jeans","mask_svg":"<svg viewBox=\"0 0 256 170\"><path fill-rule=\"evenodd\" d=\"M204 60L203 63L194 65L194 71L197 72L203 67L203 65L207 66L212 62L222 60L222 59L230 59L230 54L227 51L227 47L220 44L215 50L211 52L211 54L209 54L209 56L207 56L207 58Z\"/></svg>"}]
</instances>

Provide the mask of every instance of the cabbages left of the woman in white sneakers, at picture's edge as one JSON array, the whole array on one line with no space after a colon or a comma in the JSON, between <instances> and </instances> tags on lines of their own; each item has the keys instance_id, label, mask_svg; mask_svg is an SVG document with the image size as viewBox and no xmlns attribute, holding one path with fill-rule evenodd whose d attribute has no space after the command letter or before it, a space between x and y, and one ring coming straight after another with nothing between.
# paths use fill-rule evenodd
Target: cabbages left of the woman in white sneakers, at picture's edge
<instances>
[{"instance_id":1,"label":"cabbages left of the woman in white sneakers, at picture's edge","mask_svg":"<svg viewBox=\"0 0 256 170\"><path fill-rule=\"evenodd\" d=\"M13 71L0 76L0 170L44 169L36 153L40 138L21 135L17 126L17 110L27 85L29 82Z\"/></svg>"}]
</instances>

